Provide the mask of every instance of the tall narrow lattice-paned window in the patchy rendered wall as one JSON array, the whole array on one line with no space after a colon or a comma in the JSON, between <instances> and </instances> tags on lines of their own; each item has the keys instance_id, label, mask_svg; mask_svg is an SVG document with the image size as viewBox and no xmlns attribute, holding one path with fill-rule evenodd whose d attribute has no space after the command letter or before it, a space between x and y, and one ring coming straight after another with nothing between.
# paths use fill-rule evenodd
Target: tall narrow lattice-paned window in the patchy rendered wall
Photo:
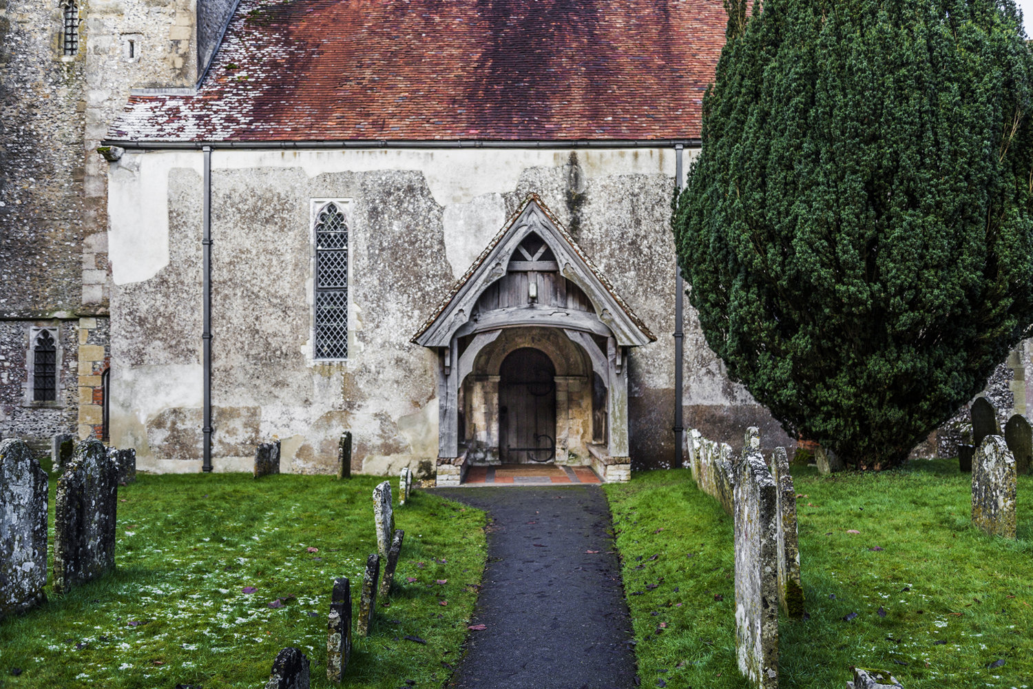
<instances>
[{"instance_id":1,"label":"tall narrow lattice-paned window in the patchy rendered wall","mask_svg":"<svg viewBox=\"0 0 1033 689\"><path fill-rule=\"evenodd\" d=\"M337 203L316 215L315 358L348 356L348 224Z\"/></svg>"}]
</instances>

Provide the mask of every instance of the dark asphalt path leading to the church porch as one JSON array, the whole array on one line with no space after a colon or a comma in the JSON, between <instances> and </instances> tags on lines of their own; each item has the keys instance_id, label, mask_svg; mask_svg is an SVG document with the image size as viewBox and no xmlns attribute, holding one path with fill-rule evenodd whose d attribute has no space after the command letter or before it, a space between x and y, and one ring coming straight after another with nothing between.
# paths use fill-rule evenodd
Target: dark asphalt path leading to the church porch
<instances>
[{"instance_id":1,"label":"dark asphalt path leading to the church porch","mask_svg":"<svg viewBox=\"0 0 1033 689\"><path fill-rule=\"evenodd\" d=\"M609 508L596 486L436 489L489 512L488 566L457 689L632 689Z\"/></svg>"}]
</instances>

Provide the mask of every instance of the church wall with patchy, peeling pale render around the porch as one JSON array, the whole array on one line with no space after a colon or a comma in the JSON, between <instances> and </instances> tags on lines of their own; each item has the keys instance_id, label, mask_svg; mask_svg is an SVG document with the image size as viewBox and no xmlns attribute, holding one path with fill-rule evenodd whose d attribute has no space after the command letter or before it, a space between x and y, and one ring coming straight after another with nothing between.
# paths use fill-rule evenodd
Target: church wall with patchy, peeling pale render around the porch
<instances>
[{"instance_id":1,"label":"church wall with patchy, peeling pale render around the porch","mask_svg":"<svg viewBox=\"0 0 1033 689\"><path fill-rule=\"evenodd\" d=\"M409 338L530 192L658 336L629 356L631 455L669 465L674 163L670 150L216 151L215 470L246 469L277 437L284 470L333 471L343 430L356 471L436 458L436 354ZM200 171L199 152L112 165L112 442L142 468L200 468ZM312 361L312 199L348 203L346 363ZM697 350L691 316L686 330L686 420L731 408L728 425L777 428Z\"/></svg>"}]
</instances>

